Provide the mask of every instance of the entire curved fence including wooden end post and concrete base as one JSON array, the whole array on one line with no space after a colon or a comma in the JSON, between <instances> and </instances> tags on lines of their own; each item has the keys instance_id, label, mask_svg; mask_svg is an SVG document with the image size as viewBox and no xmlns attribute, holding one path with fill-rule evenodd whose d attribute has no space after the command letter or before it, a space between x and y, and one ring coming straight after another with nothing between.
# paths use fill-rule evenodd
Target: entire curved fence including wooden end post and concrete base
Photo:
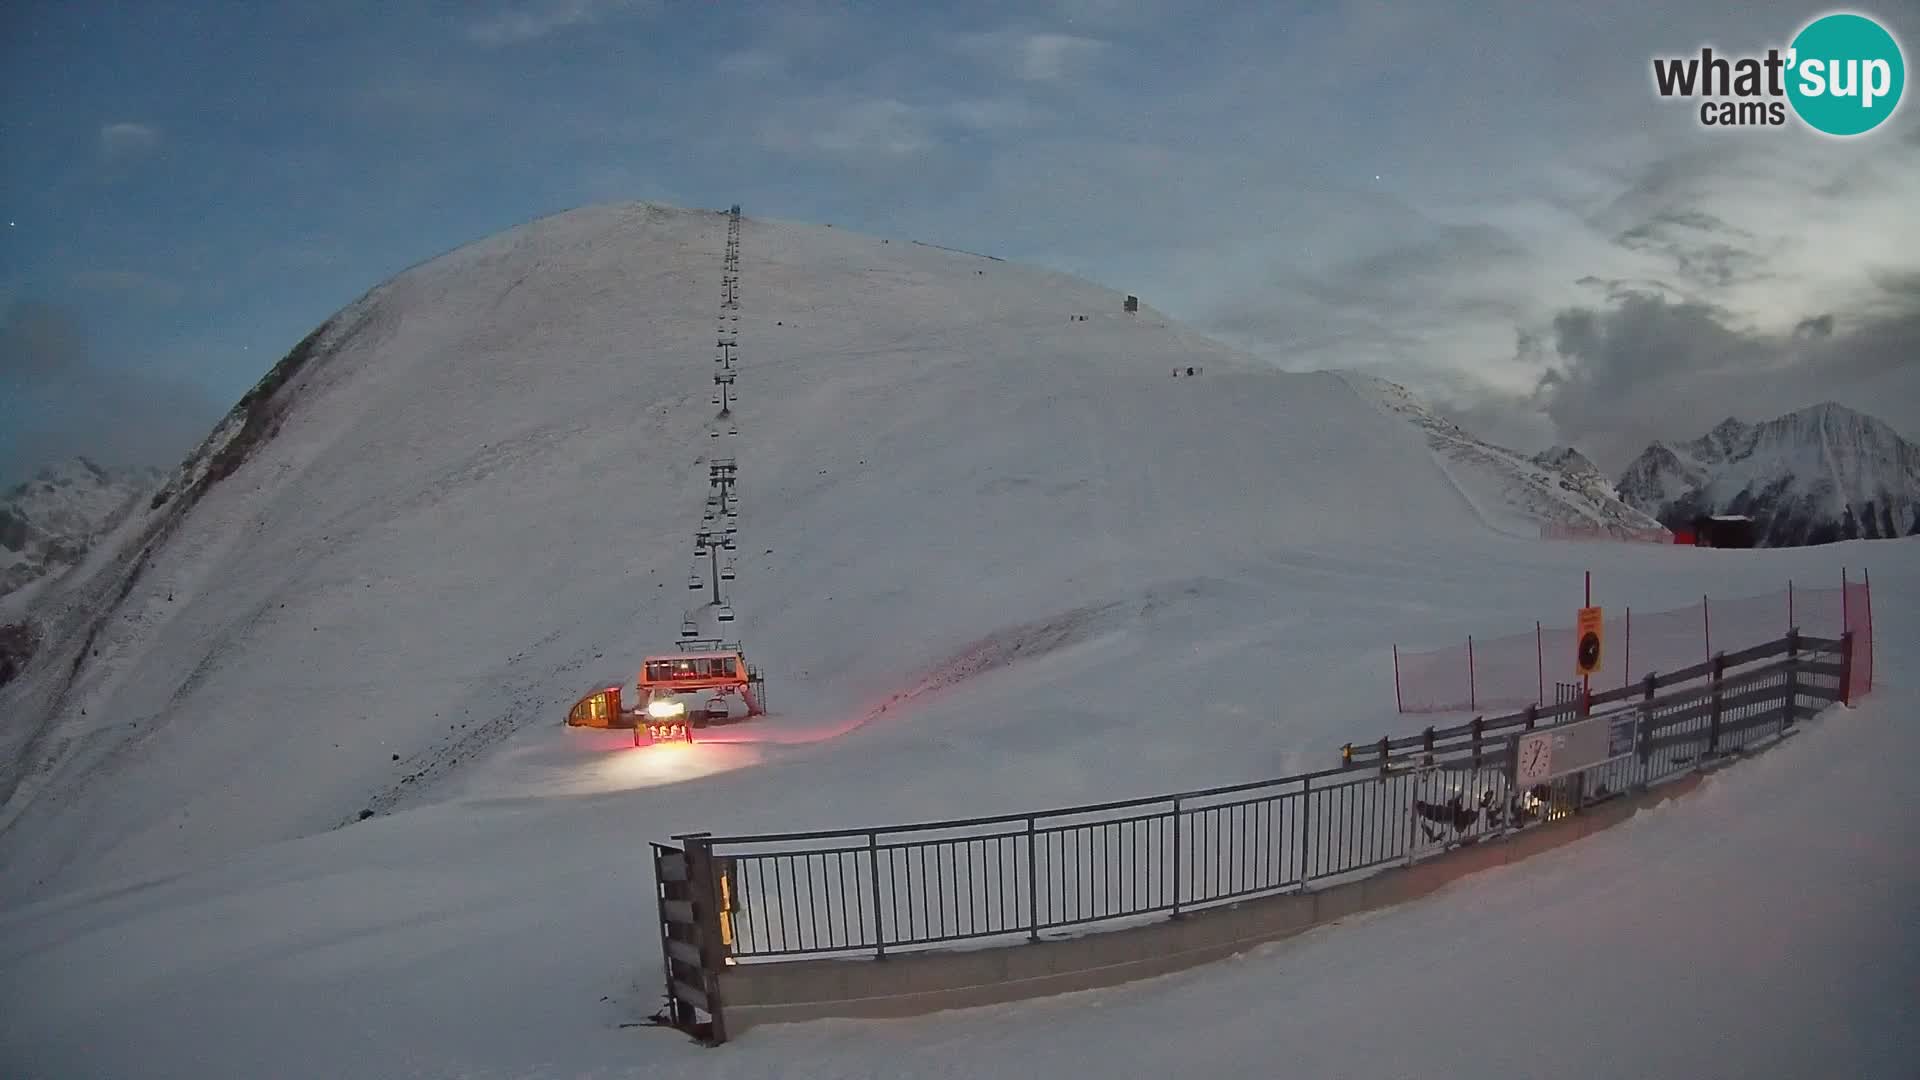
<instances>
[{"instance_id":1,"label":"entire curved fence including wooden end post and concrete base","mask_svg":"<svg viewBox=\"0 0 1920 1080\"><path fill-rule=\"evenodd\" d=\"M653 846L668 1013L718 1043L760 1022L1018 1001L1405 903L1607 828L1786 738L1843 700L1849 644L1789 632L1716 657L1709 684L1674 673L1615 694L1613 711L1526 709L1252 784L922 824L678 836L678 847ZM1492 728L1513 730L1484 738ZM1523 746L1540 738L1561 761L1523 769Z\"/></svg>"}]
</instances>

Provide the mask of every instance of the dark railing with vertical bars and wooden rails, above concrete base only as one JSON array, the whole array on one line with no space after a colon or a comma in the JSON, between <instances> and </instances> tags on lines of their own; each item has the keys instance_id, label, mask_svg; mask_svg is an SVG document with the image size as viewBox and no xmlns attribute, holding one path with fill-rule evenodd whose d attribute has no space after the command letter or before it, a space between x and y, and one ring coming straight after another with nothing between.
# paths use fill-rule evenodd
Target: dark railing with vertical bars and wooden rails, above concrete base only
<instances>
[{"instance_id":1,"label":"dark railing with vertical bars and wooden rails, above concrete base only","mask_svg":"<svg viewBox=\"0 0 1920 1080\"><path fill-rule=\"evenodd\" d=\"M1041 940L1302 890L1553 821L1788 732L1841 698L1851 640L1788 634L1705 671L1596 694L1630 744L1515 782L1526 730L1578 703L1346 748L1336 769L1039 813L682 836L710 855L726 955L776 961ZM1667 686L1684 686L1667 696Z\"/></svg>"}]
</instances>

